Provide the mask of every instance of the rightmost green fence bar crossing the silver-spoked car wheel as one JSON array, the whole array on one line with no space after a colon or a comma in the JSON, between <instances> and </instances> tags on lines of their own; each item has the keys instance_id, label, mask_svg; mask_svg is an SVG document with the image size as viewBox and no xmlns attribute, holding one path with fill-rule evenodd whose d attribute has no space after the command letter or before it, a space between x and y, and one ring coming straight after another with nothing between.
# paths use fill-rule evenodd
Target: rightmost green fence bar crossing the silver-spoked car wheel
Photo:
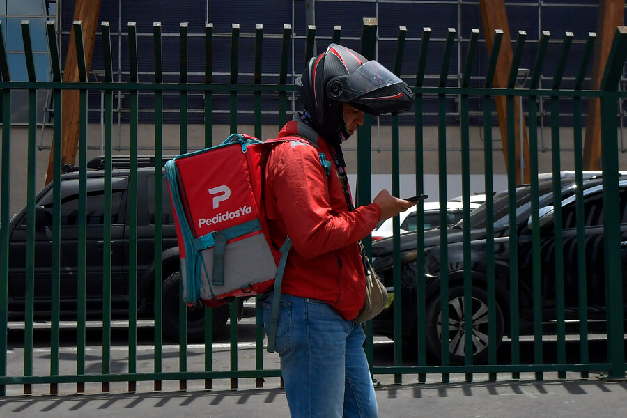
<instances>
[{"instance_id":1,"label":"rightmost green fence bar crossing the silver-spoked car wheel","mask_svg":"<svg viewBox=\"0 0 627 418\"><path fill-rule=\"evenodd\" d=\"M503 31L497 29L494 33L490 56L488 57L488 68L486 79L483 84L484 89L492 88L496 71L497 59L503 40ZM497 304L495 286L495 256L494 256L494 182L493 182L493 155L492 155L492 101L489 94L483 95L483 158L485 166L484 183L486 189L486 280L488 291L488 341L497 339ZM496 345L488 344L488 364L497 362ZM489 380L496 380L497 373L488 373Z\"/></svg>"}]
</instances>

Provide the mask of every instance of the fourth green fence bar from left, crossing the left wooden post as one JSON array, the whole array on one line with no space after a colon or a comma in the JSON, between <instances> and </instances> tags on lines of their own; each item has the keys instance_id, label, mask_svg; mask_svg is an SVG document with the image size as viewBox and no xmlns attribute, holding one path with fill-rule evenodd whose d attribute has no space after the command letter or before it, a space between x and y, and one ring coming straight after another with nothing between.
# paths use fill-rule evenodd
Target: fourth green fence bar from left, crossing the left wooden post
<instances>
[{"instance_id":1,"label":"fourth green fence bar from left, crossing the left wooden post","mask_svg":"<svg viewBox=\"0 0 627 418\"><path fill-rule=\"evenodd\" d=\"M74 22L74 40L76 47L79 81L87 82L87 65L81 22ZM79 91L79 236L78 236L78 271L77 271L77 357L76 374L85 374L86 346L86 272L87 272L87 90ZM77 382L76 392L85 392L83 382Z\"/></svg>"}]
</instances>

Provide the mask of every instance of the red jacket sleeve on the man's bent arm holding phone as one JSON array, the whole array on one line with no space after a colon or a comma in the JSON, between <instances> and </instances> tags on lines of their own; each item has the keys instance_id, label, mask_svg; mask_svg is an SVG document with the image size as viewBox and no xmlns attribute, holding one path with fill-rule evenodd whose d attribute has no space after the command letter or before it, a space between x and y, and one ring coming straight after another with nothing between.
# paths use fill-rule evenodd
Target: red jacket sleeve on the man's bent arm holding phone
<instances>
[{"instance_id":1,"label":"red jacket sleeve on the man's bent arm holding phone","mask_svg":"<svg viewBox=\"0 0 627 418\"><path fill-rule=\"evenodd\" d=\"M327 178L316 148L297 142L277 148L277 159L268 167L268 184L296 251L313 258L354 244L372 232L381 208L371 203L351 212L333 210L327 182L339 180L333 170Z\"/></svg>"}]
</instances>

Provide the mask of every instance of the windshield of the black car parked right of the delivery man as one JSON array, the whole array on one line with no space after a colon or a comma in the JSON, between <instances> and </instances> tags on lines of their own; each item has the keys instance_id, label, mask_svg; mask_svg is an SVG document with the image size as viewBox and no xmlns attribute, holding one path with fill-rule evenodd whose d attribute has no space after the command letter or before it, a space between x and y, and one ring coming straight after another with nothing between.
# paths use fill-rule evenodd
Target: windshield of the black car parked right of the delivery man
<instances>
[{"instance_id":1,"label":"windshield of the black car parked right of the delivery man","mask_svg":"<svg viewBox=\"0 0 627 418\"><path fill-rule=\"evenodd\" d=\"M529 216L531 210L531 186L522 185L516 187L516 218L520 216ZM539 186L539 207L547 206L552 201L552 188L550 183L544 183ZM500 192L494 195L493 200L493 222L495 228L509 225L509 194L508 192ZM470 212L470 228L481 229L486 227L487 212L486 203L479 208ZM454 225L456 228L462 226L463 221L459 221Z\"/></svg>"}]
</instances>

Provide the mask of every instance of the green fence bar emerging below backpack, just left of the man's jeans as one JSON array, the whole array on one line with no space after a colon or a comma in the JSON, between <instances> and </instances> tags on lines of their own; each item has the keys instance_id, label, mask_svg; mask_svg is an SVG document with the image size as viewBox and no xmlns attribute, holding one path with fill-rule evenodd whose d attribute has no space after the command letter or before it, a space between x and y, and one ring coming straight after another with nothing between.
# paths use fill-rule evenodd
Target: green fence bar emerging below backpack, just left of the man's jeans
<instances>
[{"instance_id":1,"label":"green fence bar emerging below backpack, just left of the man's jeans","mask_svg":"<svg viewBox=\"0 0 627 418\"><path fill-rule=\"evenodd\" d=\"M254 84L261 84L263 62L263 24L255 26ZM261 91L255 91L255 136L261 139ZM263 309L261 295L255 297L255 370L263 370ZM263 378L255 378L255 387L263 387Z\"/></svg>"}]
</instances>

